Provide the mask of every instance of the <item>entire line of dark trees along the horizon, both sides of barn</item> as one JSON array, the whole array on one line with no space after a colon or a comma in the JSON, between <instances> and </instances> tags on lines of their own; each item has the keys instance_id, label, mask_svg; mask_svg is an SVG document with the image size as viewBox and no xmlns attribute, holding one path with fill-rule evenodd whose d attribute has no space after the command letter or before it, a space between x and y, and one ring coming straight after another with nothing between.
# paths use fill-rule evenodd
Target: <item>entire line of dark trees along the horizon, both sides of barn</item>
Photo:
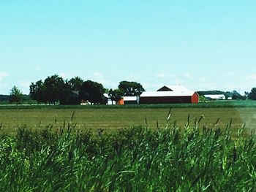
<instances>
[{"instance_id":1,"label":"entire line of dark trees along the horizon, both sides of barn","mask_svg":"<svg viewBox=\"0 0 256 192\"><path fill-rule=\"evenodd\" d=\"M37 101L38 104L80 104L80 101L88 101L91 104L106 104L107 98L103 95L108 93L112 101L119 101L124 96L140 96L145 91L139 82L121 81L116 89L104 88L104 86L95 81L84 81L80 77L73 77L70 80L64 80L58 74L48 76L45 80L31 82L29 86L30 99ZM252 99L256 100L256 88L251 92L245 92L241 96L237 91L197 91L202 96L204 94L225 94L232 99ZM28 96L25 96L28 100ZM7 96L1 96L7 98ZM14 86L8 96L11 103L20 104L24 100L24 95Z\"/></svg>"}]
</instances>

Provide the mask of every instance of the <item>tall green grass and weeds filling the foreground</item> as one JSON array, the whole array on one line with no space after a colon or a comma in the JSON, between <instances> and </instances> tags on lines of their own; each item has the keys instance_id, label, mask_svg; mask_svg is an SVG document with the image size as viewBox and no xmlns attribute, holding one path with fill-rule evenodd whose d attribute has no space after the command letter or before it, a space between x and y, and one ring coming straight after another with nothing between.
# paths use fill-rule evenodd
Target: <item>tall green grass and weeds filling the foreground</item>
<instances>
[{"instance_id":1,"label":"tall green grass and weeds filling the foreground","mask_svg":"<svg viewBox=\"0 0 256 192\"><path fill-rule=\"evenodd\" d=\"M151 130L19 128L0 138L0 191L255 191L254 136L170 124ZM147 124L147 120L146 120Z\"/></svg>"}]
</instances>

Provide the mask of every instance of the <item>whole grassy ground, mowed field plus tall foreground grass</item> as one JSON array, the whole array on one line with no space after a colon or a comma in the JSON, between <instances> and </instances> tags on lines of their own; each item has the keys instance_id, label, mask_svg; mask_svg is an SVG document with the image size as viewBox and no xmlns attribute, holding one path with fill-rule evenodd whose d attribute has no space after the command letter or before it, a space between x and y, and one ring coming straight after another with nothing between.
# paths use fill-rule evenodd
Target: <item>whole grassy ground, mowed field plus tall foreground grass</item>
<instances>
[{"instance_id":1,"label":"whole grassy ground, mowed field plus tall foreground grass","mask_svg":"<svg viewBox=\"0 0 256 192\"><path fill-rule=\"evenodd\" d=\"M0 107L0 191L256 190L255 107L169 107Z\"/></svg>"}]
</instances>

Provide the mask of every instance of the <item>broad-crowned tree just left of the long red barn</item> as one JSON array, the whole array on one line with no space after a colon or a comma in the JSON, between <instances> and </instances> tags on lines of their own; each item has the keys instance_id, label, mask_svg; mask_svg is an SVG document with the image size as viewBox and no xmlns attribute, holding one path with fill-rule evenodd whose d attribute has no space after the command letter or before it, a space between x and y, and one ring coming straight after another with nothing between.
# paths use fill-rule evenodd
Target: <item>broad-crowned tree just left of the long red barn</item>
<instances>
[{"instance_id":1,"label":"broad-crowned tree just left of the long red barn","mask_svg":"<svg viewBox=\"0 0 256 192\"><path fill-rule=\"evenodd\" d=\"M118 88L124 91L124 96L140 96L145 91L143 86L138 82L121 81Z\"/></svg>"}]
</instances>

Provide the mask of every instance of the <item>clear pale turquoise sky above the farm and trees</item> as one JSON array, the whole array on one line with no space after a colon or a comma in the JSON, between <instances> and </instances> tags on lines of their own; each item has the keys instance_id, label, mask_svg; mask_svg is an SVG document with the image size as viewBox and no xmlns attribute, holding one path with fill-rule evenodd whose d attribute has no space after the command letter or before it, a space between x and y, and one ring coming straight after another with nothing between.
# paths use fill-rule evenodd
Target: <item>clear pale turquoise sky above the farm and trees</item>
<instances>
[{"instance_id":1,"label":"clear pale turquoise sky above the farm and trees","mask_svg":"<svg viewBox=\"0 0 256 192\"><path fill-rule=\"evenodd\" d=\"M53 74L146 91L256 87L256 1L0 2L0 94Z\"/></svg>"}]
</instances>

